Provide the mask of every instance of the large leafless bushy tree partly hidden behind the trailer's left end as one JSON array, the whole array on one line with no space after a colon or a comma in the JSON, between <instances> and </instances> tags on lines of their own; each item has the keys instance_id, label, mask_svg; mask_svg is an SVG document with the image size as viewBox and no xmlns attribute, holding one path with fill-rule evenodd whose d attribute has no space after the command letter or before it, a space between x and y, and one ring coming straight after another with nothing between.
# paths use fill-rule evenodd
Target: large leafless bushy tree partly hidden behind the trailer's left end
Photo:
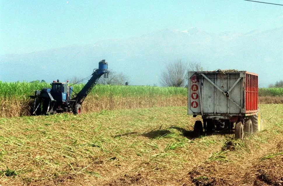
<instances>
[{"instance_id":1,"label":"large leafless bushy tree partly hidden behind the trailer's left end","mask_svg":"<svg viewBox=\"0 0 283 186\"><path fill-rule=\"evenodd\" d=\"M165 71L161 73L160 84L169 87L186 86L188 71L201 71L200 63L190 62L184 63L181 60L170 63L166 66Z\"/></svg>"}]
</instances>

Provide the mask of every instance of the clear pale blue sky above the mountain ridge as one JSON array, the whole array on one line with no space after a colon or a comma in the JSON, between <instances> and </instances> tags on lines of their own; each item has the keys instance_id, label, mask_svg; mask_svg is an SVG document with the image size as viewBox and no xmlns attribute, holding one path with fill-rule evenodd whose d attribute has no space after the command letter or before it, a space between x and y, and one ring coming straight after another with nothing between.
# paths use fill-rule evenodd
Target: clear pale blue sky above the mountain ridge
<instances>
[{"instance_id":1,"label":"clear pale blue sky above the mountain ridge","mask_svg":"<svg viewBox=\"0 0 283 186\"><path fill-rule=\"evenodd\" d=\"M264 0L283 4L283 0ZM249 32L283 26L283 6L243 0L0 1L0 55L98 40L139 37L165 28Z\"/></svg>"}]
</instances>

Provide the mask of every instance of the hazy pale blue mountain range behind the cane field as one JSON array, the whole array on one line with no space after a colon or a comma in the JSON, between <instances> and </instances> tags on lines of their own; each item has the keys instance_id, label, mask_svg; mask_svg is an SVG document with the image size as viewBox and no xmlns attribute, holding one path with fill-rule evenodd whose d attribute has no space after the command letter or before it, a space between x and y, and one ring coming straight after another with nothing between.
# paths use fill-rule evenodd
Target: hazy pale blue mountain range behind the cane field
<instances>
[{"instance_id":1,"label":"hazy pale blue mountain range behind the cane field","mask_svg":"<svg viewBox=\"0 0 283 186\"><path fill-rule=\"evenodd\" d=\"M0 56L0 80L67 80L87 77L106 59L130 85L159 85L166 64L181 59L205 70L238 69L258 73L259 85L283 79L283 27L247 33L209 33L197 28L159 30L141 37Z\"/></svg>"}]
</instances>

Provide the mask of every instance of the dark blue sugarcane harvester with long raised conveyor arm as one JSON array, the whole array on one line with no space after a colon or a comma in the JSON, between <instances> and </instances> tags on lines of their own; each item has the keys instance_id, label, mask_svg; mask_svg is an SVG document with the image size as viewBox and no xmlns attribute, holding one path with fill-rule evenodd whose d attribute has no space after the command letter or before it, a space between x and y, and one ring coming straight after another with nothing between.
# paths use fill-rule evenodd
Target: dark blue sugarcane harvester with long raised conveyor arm
<instances>
[{"instance_id":1,"label":"dark blue sugarcane harvester with long raised conveyor arm","mask_svg":"<svg viewBox=\"0 0 283 186\"><path fill-rule=\"evenodd\" d=\"M63 112L73 112L74 114L82 113L82 104L88 96L92 88L97 84L99 78L104 75L108 78L108 63L105 60L99 61L98 69L94 69L92 77L85 86L72 98L73 87L67 83L59 82L59 80L51 83L51 88L43 88L40 91L36 90L33 106L31 107L32 115L45 115Z\"/></svg>"}]
</instances>

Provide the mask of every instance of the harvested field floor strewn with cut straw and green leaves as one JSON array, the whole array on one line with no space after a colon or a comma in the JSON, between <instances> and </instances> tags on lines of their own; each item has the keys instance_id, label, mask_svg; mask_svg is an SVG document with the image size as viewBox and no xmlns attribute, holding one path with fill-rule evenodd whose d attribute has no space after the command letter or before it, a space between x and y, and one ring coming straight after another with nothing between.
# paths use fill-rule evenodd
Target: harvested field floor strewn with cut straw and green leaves
<instances>
[{"instance_id":1,"label":"harvested field floor strewn with cut straw and green leaves","mask_svg":"<svg viewBox=\"0 0 283 186\"><path fill-rule=\"evenodd\" d=\"M282 185L283 105L264 131L193 139L186 107L0 118L0 185Z\"/></svg>"}]
</instances>

